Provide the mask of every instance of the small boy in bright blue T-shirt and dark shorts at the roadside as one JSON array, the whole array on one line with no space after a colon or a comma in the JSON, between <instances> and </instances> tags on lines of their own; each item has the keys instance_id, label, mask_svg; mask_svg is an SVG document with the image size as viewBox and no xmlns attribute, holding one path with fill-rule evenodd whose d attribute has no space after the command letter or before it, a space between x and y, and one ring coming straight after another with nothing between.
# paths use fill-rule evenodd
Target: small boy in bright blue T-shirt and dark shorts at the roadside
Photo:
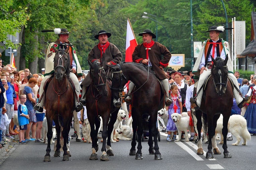
<instances>
[{"instance_id":1,"label":"small boy in bright blue T-shirt and dark shorts at the roadside","mask_svg":"<svg viewBox=\"0 0 256 170\"><path fill-rule=\"evenodd\" d=\"M19 121L19 143L27 144L25 141L25 130L27 130L27 124L29 124L29 116L27 112L27 107L25 105L26 95L21 94L19 96L19 107L18 107L18 121Z\"/></svg>"}]
</instances>

